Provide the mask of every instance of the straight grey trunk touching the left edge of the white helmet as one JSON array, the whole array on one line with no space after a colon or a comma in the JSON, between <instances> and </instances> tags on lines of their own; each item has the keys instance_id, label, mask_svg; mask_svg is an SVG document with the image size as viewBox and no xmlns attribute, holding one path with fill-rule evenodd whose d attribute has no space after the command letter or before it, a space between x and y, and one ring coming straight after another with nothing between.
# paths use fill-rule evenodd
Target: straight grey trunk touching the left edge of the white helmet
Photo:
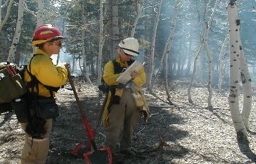
<instances>
[{"instance_id":1,"label":"straight grey trunk touching the left edge of the white helmet","mask_svg":"<svg viewBox=\"0 0 256 164\"><path fill-rule=\"evenodd\" d=\"M112 53L111 60L118 55L119 28L118 28L118 0L112 1Z\"/></svg>"}]
</instances>

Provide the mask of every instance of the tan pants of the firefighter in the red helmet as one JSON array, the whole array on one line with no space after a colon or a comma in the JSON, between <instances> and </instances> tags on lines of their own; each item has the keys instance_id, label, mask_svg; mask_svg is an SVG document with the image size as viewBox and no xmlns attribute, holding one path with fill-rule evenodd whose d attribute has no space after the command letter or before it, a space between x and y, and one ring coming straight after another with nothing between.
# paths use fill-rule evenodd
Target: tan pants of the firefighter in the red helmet
<instances>
[{"instance_id":1,"label":"tan pants of the firefighter in the red helmet","mask_svg":"<svg viewBox=\"0 0 256 164\"><path fill-rule=\"evenodd\" d=\"M25 131L27 123L20 123ZM52 119L46 120L46 134L41 136L43 139L32 139L25 133L25 141L21 153L21 164L44 164L49 151L49 137L52 131Z\"/></svg>"}]
</instances>

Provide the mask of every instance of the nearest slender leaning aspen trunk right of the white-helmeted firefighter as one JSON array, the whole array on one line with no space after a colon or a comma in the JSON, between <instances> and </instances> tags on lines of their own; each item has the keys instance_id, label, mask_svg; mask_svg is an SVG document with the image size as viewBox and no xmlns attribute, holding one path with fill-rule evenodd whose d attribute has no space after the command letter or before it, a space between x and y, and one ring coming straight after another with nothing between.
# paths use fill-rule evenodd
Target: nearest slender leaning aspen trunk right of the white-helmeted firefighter
<instances>
[{"instance_id":1,"label":"nearest slender leaning aspen trunk right of the white-helmeted firefighter","mask_svg":"<svg viewBox=\"0 0 256 164\"><path fill-rule=\"evenodd\" d=\"M152 82L152 76L153 76L153 71L154 71L154 55L155 55L155 42L156 42L156 29L158 29L158 21L159 21L159 17L160 17L160 10L162 7L162 0L159 0L159 6L158 6L158 14L156 16L156 20L155 20L155 25L153 28L153 38L152 38L152 44L151 44L151 57L150 57L150 62L149 62L149 76L148 76L148 87L147 89L151 92L152 91L152 86L151 86L151 82Z\"/></svg>"}]
</instances>

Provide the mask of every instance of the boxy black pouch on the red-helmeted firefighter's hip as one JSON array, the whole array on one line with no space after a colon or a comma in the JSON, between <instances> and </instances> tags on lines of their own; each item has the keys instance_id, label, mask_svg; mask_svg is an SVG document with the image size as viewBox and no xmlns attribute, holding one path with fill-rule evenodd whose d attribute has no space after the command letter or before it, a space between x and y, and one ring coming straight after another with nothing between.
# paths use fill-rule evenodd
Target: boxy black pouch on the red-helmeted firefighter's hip
<instances>
[{"instance_id":1,"label":"boxy black pouch on the red-helmeted firefighter's hip","mask_svg":"<svg viewBox=\"0 0 256 164\"><path fill-rule=\"evenodd\" d=\"M35 114L45 120L58 117L58 105L54 98L35 100Z\"/></svg>"}]
</instances>

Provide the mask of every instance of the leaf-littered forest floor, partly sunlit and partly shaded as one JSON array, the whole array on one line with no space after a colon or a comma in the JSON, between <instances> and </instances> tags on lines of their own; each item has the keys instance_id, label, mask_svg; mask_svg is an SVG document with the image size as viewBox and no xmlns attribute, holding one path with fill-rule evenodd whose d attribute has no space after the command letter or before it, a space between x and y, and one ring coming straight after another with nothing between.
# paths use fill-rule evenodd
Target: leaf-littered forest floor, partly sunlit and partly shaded
<instances>
[{"instance_id":1,"label":"leaf-littered forest floor, partly sunlit and partly shaded","mask_svg":"<svg viewBox=\"0 0 256 164\"><path fill-rule=\"evenodd\" d=\"M189 80L170 81L171 102L175 106L151 107L149 121L141 119L134 131L133 147L140 153L135 156L118 153L114 156L114 163L255 163L255 92L248 141L238 143L229 111L228 92L218 93L214 89L213 110L209 110L207 86L199 84L199 81L192 89L193 104L188 102ZM145 91L149 105L169 105L164 82L159 81L153 87L153 94ZM104 98L98 96L96 83L83 84L76 79L75 85L83 110L93 126ZM46 163L85 163L83 159L71 155L75 144L85 145L87 134L69 83L58 92L57 103L60 117L53 122ZM96 133L98 147L103 146L105 133L103 125L100 125ZM2 113L0 163L20 163L23 139L24 132L16 115L13 112Z\"/></svg>"}]
</instances>

